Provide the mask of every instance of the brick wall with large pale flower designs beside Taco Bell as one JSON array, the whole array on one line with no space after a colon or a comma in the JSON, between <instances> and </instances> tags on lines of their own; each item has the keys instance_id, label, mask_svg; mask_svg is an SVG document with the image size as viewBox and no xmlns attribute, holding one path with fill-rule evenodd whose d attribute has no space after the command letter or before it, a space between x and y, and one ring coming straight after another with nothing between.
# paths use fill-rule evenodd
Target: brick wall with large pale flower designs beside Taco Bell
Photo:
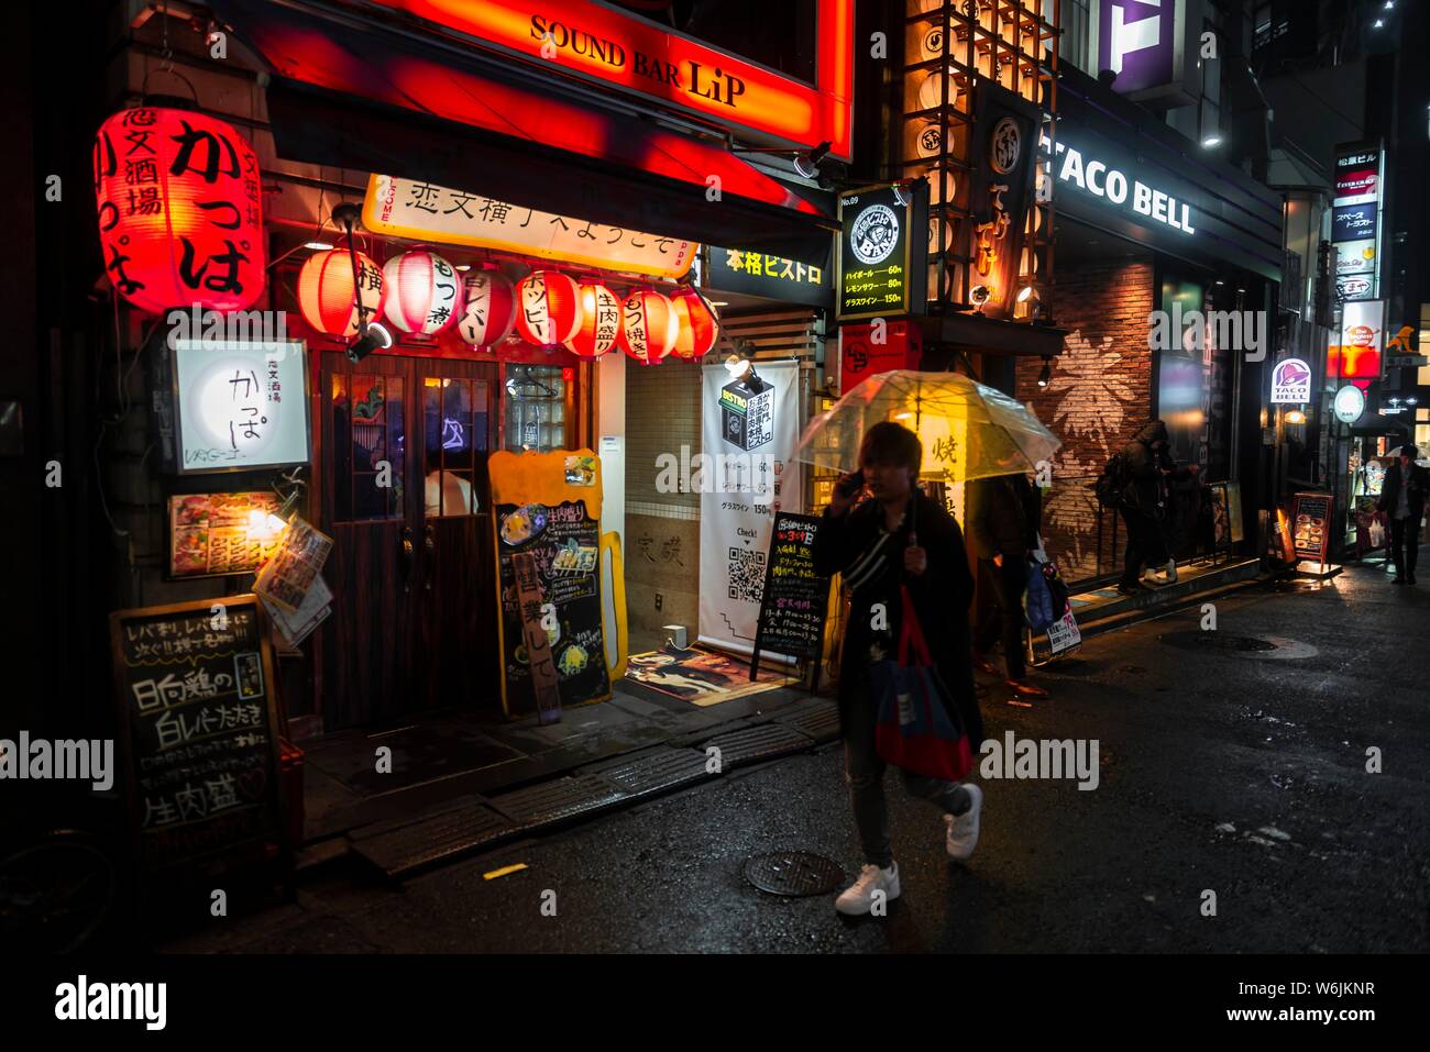
<instances>
[{"instance_id":1,"label":"brick wall with large pale flower designs beside Taco Bell","mask_svg":"<svg viewBox=\"0 0 1430 1052\"><path fill-rule=\"evenodd\" d=\"M1052 462L1052 486L1044 492L1042 533L1048 555L1070 580L1108 573L1123 556L1125 532L1117 522L1114 550L1115 515L1097 503L1093 480L1150 417L1147 314L1153 300L1150 257L1065 267L1052 293L1052 317L1068 336L1062 354L1052 359L1048 386L1037 383L1040 359L1018 360L1018 399L1030 402L1038 419L1062 439Z\"/></svg>"}]
</instances>

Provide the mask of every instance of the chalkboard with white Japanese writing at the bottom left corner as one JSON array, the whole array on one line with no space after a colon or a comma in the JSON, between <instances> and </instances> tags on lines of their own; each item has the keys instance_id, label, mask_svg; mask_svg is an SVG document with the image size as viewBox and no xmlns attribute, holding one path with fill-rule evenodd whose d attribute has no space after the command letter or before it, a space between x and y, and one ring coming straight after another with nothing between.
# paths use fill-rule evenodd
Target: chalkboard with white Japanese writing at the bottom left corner
<instances>
[{"instance_id":1,"label":"chalkboard with white Japanese writing at the bottom left corner","mask_svg":"<svg viewBox=\"0 0 1430 1052\"><path fill-rule=\"evenodd\" d=\"M269 625L257 596L110 615L139 856L167 870L287 850Z\"/></svg>"}]
</instances>

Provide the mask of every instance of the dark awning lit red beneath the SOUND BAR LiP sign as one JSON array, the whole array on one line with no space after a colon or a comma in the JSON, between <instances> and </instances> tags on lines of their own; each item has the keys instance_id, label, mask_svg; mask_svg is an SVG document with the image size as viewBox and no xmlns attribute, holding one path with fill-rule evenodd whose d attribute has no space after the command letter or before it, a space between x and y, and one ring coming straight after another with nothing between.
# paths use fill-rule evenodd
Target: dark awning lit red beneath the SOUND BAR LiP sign
<instances>
[{"instance_id":1,"label":"dark awning lit red beneath the SOUND BAR LiP sign","mask_svg":"<svg viewBox=\"0 0 1430 1052\"><path fill-rule=\"evenodd\" d=\"M828 264L838 222L724 149L518 83L398 24L272 0L213 7L273 73L280 157Z\"/></svg>"}]
</instances>

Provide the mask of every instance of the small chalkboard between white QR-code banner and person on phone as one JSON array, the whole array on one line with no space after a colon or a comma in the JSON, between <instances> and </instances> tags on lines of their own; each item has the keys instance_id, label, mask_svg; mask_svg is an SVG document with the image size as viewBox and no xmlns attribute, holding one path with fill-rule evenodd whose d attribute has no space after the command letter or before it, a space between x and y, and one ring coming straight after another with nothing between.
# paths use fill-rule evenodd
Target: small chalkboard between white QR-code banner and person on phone
<instances>
[{"instance_id":1,"label":"small chalkboard between white QR-code banner and person on phone","mask_svg":"<svg viewBox=\"0 0 1430 1052\"><path fill-rule=\"evenodd\" d=\"M824 647L824 615L829 602L829 579L814 569L814 537L819 519L812 515L776 512L765 560L765 587L759 597L759 626L755 655L749 665L754 679L759 652L774 650L791 658L819 658Z\"/></svg>"}]
</instances>

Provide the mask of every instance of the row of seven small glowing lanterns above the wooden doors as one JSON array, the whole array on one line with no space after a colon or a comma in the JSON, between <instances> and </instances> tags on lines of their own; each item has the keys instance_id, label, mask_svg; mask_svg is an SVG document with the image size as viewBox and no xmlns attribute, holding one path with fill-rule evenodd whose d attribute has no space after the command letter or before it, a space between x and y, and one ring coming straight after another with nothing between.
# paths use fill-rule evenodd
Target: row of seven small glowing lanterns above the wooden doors
<instances>
[{"instance_id":1,"label":"row of seven small glowing lanterns above the wooden doors","mask_svg":"<svg viewBox=\"0 0 1430 1052\"><path fill-rule=\"evenodd\" d=\"M581 282L559 270L532 270L515 286L495 264L469 273L428 249L412 249L378 267L358 257L359 296L346 249L317 252L297 276L297 303L310 326L330 336L359 330L358 303L369 317L385 316L408 333L432 336L456 326L473 347L490 347L513 330L528 343L566 347L586 359L616 347L644 364L668 354L695 360L719 337L715 309L699 292L682 286L669 296L649 287L618 296L599 282Z\"/></svg>"}]
</instances>

